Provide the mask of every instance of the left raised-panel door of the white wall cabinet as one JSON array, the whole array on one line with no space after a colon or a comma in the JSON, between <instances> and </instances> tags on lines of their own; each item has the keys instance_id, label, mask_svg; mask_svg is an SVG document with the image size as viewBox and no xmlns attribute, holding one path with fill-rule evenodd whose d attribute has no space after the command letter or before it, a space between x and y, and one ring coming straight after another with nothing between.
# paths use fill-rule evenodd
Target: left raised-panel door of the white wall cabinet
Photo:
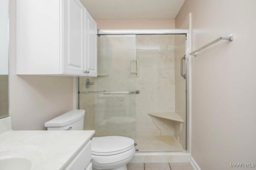
<instances>
[{"instance_id":1,"label":"left raised-panel door of the white wall cabinet","mask_svg":"<svg viewBox=\"0 0 256 170\"><path fill-rule=\"evenodd\" d=\"M80 0L64 0L63 4L63 72L84 75L84 14Z\"/></svg>"}]
</instances>

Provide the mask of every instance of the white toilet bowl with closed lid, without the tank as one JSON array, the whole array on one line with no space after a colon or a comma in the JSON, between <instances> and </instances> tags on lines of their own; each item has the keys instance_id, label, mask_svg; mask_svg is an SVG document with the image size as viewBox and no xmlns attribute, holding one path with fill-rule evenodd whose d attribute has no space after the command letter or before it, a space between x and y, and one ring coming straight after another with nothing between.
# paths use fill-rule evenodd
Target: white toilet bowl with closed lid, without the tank
<instances>
[{"instance_id":1,"label":"white toilet bowl with closed lid, without the tank","mask_svg":"<svg viewBox=\"0 0 256 170\"><path fill-rule=\"evenodd\" d=\"M92 138L92 167L95 170L127 170L135 153L134 140L122 136Z\"/></svg>"}]
</instances>

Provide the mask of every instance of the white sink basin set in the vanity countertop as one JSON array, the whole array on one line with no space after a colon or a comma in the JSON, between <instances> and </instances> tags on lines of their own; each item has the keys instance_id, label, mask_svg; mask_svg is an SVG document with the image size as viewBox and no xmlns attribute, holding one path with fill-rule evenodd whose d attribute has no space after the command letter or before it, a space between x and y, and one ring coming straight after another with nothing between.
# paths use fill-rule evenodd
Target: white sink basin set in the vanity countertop
<instances>
[{"instance_id":1,"label":"white sink basin set in the vanity countertop","mask_svg":"<svg viewBox=\"0 0 256 170\"><path fill-rule=\"evenodd\" d=\"M46 158L39 147L0 148L0 170L43 170Z\"/></svg>"}]
</instances>

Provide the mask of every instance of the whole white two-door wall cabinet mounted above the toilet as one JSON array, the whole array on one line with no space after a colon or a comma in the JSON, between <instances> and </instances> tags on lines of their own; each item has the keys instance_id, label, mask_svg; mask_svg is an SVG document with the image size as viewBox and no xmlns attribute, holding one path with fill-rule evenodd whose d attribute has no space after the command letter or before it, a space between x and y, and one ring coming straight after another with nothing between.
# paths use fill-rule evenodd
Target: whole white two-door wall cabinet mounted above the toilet
<instances>
[{"instance_id":1,"label":"whole white two-door wall cabinet mounted above the toilet","mask_svg":"<svg viewBox=\"0 0 256 170\"><path fill-rule=\"evenodd\" d=\"M17 0L16 74L97 76L96 38L80 0Z\"/></svg>"}]
</instances>

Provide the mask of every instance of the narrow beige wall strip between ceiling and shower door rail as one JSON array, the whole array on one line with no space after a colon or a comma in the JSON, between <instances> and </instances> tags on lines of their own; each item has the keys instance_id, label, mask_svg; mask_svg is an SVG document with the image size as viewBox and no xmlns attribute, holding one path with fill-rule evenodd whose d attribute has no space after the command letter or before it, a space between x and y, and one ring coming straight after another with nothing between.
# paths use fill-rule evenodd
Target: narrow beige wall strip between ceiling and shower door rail
<instances>
[{"instance_id":1,"label":"narrow beige wall strip between ceiling and shower door rail","mask_svg":"<svg viewBox=\"0 0 256 170\"><path fill-rule=\"evenodd\" d=\"M174 19L113 19L96 20L98 29L172 29Z\"/></svg>"}]
</instances>

